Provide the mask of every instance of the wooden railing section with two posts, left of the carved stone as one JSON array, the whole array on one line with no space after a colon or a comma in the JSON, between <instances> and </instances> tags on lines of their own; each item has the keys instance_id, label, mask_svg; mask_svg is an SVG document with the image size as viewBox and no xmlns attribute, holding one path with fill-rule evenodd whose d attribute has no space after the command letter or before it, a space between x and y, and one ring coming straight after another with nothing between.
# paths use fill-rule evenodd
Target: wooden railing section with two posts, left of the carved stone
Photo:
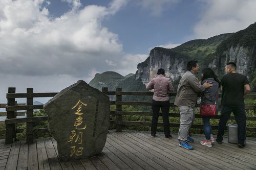
<instances>
[{"instance_id":1,"label":"wooden railing section with two posts, left of the carved stone","mask_svg":"<svg viewBox=\"0 0 256 170\"><path fill-rule=\"evenodd\" d=\"M33 122L47 120L48 116L33 117L33 110L44 109L44 105L33 105L34 98L53 97L57 93L34 93L33 88L27 88L27 93L15 93L15 87L9 87L7 98L7 119L5 120L5 143L12 143L13 138L16 139L16 133L23 132L24 129L16 129L16 124L27 123L26 126L26 141L27 143L33 142L33 132L44 131L47 132L48 128L33 129ZM15 105L15 99L27 98L27 103L24 106ZM16 111L26 110L27 117L16 118Z\"/></svg>"}]
</instances>

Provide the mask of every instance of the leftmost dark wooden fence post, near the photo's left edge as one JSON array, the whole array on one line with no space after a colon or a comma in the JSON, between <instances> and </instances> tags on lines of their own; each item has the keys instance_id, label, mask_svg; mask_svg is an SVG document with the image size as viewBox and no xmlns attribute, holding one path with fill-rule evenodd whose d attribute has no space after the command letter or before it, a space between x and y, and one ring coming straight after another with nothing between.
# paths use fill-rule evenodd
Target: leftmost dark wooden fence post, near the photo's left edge
<instances>
[{"instance_id":1,"label":"leftmost dark wooden fence post, near the photo's left edge","mask_svg":"<svg viewBox=\"0 0 256 170\"><path fill-rule=\"evenodd\" d=\"M15 93L16 88L15 87L9 87L8 88L8 93ZM15 98L8 98L7 99L7 106L15 106ZM7 119L9 118L15 118L15 111L7 111ZM16 131L15 128L16 124L6 124L6 134L5 134L5 143L9 144L13 142L13 137L16 138L16 136L14 136L16 133L14 133Z\"/></svg>"}]
</instances>

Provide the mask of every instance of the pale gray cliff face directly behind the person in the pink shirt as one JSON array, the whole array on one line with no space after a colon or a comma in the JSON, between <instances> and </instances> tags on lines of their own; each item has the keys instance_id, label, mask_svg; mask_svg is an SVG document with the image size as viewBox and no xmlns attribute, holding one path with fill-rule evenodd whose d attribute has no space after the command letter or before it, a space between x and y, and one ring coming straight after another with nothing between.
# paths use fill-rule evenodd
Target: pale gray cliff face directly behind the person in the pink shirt
<instances>
[{"instance_id":1,"label":"pale gray cliff face directly behind the person in the pink shirt","mask_svg":"<svg viewBox=\"0 0 256 170\"><path fill-rule=\"evenodd\" d=\"M157 76L159 68L165 69L165 77L175 80L181 77L186 71L185 63L188 61L188 56L178 55L176 52L155 47L150 52L150 56L142 63L139 63L136 71L136 79L140 79L143 84L147 85L151 78Z\"/></svg>"}]
</instances>

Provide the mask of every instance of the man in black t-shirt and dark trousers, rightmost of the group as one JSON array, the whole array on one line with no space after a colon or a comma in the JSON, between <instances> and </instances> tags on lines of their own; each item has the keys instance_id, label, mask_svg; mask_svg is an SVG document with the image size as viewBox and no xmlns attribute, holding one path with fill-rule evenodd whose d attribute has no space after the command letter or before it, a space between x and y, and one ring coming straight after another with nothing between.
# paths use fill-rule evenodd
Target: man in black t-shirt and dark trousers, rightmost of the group
<instances>
[{"instance_id":1,"label":"man in black t-shirt and dark trousers, rightmost of the group","mask_svg":"<svg viewBox=\"0 0 256 170\"><path fill-rule=\"evenodd\" d=\"M222 99L221 117L216 141L222 143L227 120L231 112L238 124L238 146L245 147L246 115L244 96L250 91L248 79L236 72L237 65L229 62L225 66L226 75L221 79Z\"/></svg>"}]
</instances>

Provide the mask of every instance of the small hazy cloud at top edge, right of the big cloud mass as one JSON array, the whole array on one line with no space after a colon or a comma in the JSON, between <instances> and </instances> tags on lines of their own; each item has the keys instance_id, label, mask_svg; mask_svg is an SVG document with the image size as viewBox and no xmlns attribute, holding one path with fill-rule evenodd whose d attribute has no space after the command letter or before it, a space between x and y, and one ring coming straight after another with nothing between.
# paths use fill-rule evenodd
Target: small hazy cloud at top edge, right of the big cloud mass
<instances>
[{"instance_id":1,"label":"small hazy cloud at top edge, right of the big cloud mass","mask_svg":"<svg viewBox=\"0 0 256 170\"><path fill-rule=\"evenodd\" d=\"M161 16L165 10L169 10L170 6L179 0L140 0L138 4L146 10L151 11L152 16Z\"/></svg>"}]
</instances>

